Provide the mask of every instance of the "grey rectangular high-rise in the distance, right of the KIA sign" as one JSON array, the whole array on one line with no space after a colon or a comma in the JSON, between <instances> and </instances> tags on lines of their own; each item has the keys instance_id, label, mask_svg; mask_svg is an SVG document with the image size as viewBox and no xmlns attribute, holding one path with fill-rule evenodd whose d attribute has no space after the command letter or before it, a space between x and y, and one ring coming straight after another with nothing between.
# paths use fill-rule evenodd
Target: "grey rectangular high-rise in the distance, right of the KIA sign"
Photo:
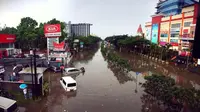
<instances>
[{"instance_id":1,"label":"grey rectangular high-rise in the distance, right of the KIA sign","mask_svg":"<svg viewBox=\"0 0 200 112\"><path fill-rule=\"evenodd\" d=\"M89 23L78 23L78 24L71 24L68 23L68 35L71 36L90 36L90 26L92 24Z\"/></svg>"}]
</instances>

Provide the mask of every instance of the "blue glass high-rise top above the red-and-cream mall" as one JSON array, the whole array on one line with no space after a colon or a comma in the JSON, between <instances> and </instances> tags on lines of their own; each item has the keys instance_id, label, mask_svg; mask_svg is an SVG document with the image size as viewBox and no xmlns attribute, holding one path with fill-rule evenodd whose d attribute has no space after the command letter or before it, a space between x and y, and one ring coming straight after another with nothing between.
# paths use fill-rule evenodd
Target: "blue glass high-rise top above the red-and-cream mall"
<instances>
[{"instance_id":1,"label":"blue glass high-rise top above the red-and-cream mall","mask_svg":"<svg viewBox=\"0 0 200 112\"><path fill-rule=\"evenodd\" d=\"M159 0L156 14L165 16L180 14L182 7L194 4L196 0Z\"/></svg>"}]
</instances>

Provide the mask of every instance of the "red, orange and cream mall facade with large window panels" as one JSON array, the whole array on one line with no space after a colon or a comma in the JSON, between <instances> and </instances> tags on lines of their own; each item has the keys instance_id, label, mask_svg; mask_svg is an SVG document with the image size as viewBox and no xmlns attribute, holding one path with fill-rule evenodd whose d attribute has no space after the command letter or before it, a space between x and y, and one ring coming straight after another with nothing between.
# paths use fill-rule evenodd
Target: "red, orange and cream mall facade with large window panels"
<instances>
[{"instance_id":1,"label":"red, orange and cream mall facade with large window panels","mask_svg":"<svg viewBox=\"0 0 200 112\"><path fill-rule=\"evenodd\" d=\"M197 4L184 7L182 13L172 16L153 16L152 28L158 24L158 43L170 43L174 49L185 49L189 46L188 40L194 40L195 24L197 19ZM147 22L146 29L150 22ZM151 31L151 41L155 40L155 28ZM154 39L154 40L152 40ZM155 43L155 42L154 42Z\"/></svg>"}]
</instances>

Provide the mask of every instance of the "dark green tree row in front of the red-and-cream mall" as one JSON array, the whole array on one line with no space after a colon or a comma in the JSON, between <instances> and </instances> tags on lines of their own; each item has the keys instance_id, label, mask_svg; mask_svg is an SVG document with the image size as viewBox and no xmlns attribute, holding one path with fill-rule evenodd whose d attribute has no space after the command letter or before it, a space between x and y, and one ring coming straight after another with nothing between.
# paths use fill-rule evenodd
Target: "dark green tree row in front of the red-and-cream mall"
<instances>
[{"instance_id":1,"label":"dark green tree row in front of the red-and-cream mall","mask_svg":"<svg viewBox=\"0 0 200 112\"><path fill-rule=\"evenodd\" d=\"M142 53L165 61L170 60L178 54L178 51L170 49L170 44L159 46L141 36L110 36L105 38L105 41L114 45L120 52Z\"/></svg>"}]
</instances>

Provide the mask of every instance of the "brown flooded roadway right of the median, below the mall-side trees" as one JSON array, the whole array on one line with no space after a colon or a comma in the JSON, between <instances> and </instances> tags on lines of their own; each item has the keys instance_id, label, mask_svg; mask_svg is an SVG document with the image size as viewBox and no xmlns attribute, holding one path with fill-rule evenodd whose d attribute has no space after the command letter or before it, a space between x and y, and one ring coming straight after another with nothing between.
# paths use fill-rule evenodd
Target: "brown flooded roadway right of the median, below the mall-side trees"
<instances>
[{"instance_id":1,"label":"brown flooded roadway right of the median, below the mall-side trees","mask_svg":"<svg viewBox=\"0 0 200 112\"><path fill-rule=\"evenodd\" d=\"M151 59L142 58L137 55L119 53L122 57L129 59L133 67L133 71L151 72L155 74L165 75L173 78L176 84L186 87L200 89L200 76L186 71L184 68L173 65L166 65Z\"/></svg>"}]
</instances>

